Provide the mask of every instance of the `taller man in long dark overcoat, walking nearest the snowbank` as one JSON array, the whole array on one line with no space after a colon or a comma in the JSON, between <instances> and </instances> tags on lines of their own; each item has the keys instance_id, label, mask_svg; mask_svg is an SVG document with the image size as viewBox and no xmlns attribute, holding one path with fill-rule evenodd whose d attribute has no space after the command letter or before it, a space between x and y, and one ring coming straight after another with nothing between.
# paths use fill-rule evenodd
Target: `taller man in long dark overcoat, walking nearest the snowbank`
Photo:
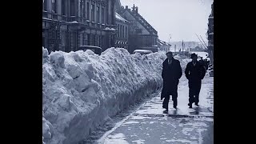
<instances>
[{"instance_id":1,"label":"taller man in long dark overcoat, walking nearest the snowbank","mask_svg":"<svg viewBox=\"0 0 256 144\"><path fill-rule=\"evenodd\" d=\"M178 98L178 80L182 77L182 67L177 59L173 58L172 52L166 53L166 60L162 62L162 98L165 98L162 102L162 108L168 111L168 103L170 100L170 95L172 95L172 100L174 101L174 108L177 108L177 98Z\"/></svg>"}]
</instances>

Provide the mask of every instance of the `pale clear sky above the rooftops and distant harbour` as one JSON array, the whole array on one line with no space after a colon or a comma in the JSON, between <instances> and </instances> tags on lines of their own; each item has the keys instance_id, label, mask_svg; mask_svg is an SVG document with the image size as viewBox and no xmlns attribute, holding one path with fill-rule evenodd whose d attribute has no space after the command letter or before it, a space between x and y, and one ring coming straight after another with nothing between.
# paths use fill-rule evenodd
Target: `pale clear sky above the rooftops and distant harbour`
<instances>
[{"instance_id":1,"label":"pale clear sky above the rooftops and distant harbour","mask_svg":"<svg viewBox=\"0 0 256 144\"><path fill-rule=\"evenodd\" d=\"M122 6L131 8L134 3L138 13L158 31L158 38L169 42L196 41L198 34L206 39L208 17L214 0L120 0Z\"/></svg>"}]
</instances>

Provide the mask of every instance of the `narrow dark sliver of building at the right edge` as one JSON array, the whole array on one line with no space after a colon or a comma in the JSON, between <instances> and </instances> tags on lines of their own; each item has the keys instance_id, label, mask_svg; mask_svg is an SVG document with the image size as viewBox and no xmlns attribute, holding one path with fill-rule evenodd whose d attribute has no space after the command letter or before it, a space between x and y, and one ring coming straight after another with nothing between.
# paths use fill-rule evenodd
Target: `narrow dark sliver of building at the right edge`
<instances>
[{"instance_id":1,"label":"narrow dark sliver of building at the right edge","mask_svg":"<svg viewBox=\"0 0 256 144\"><path fill-rule=\"evenodd\" d=\"M211 14L208 18L208 53L210 56L210 63L214 65L214 2L211 5Z\"/></svg>"}]
</instances>

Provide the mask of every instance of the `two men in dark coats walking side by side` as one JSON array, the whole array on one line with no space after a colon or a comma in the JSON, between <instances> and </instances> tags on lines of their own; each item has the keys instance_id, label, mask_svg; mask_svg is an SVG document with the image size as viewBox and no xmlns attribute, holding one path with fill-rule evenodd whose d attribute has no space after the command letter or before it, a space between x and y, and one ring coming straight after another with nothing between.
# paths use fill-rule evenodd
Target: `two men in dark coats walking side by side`
<instances>
[{"instance_id":1,"label":"two men in dark coats walking side by side","mask_svg":"<svg viewBox=\"0 0 256 144\"><path fill-rule=\"evenodd\" d=\"M162 102L162 107L168 111L168 103L170 100L170 95L172 96L172 100L174 101L174 108L177 108L177 98L178 98L178 82L179 78L182 77L182 67L180 62L177 59L173 58L172 52L166 53L166 60L162 62L162 79L163 79L163 87L161 93L161 100L164 98ZM191 54L192 62L189 62L186 65L186 78L189 80L189 103L188 106L192 108L192 104L198 106L199 102L199 92L201 89L201 81L206 74L205 68L202 66L200 62L198 62L197 54Z\"/></svg>"}]
</instances>

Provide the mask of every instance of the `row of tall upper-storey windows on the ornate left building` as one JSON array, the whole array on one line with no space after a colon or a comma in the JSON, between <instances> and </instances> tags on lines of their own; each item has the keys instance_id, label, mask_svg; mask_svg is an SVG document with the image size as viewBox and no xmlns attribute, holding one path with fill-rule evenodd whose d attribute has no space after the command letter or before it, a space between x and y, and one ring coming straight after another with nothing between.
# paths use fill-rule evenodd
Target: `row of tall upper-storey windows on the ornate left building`
<instances>
[{"instance_id":1,"label":"row of tall upper-storey windows on the ornate left building","mask_svg":"<svg viewBox=\"0 0 256 144\"><path fill-rule=\"evenodd\" d=\"M48 11L48 0L43 0L42 1L42 9L44 11ZM102 6L101 10L100 10L100 6L97 6L95 2L90 2L87 0L79 0L80 2L80 15L79 17L81 18L86 18L92 22L97 22L100 23L100 11L101 11L101 22L105 23L105 9L104 6ZM58 0L51 0L51 4L52 4L52 13L54 14L58 14ZM62 0L62 15L67 15L67 1L66 0ZM90 12L90 13L89 13ZM95 15L96 13L96 15ZM75 16L75 3L74 0L70 0L70 16ZM95 18L96 17L96 18Z\"/></svg>"}]
</instances>

